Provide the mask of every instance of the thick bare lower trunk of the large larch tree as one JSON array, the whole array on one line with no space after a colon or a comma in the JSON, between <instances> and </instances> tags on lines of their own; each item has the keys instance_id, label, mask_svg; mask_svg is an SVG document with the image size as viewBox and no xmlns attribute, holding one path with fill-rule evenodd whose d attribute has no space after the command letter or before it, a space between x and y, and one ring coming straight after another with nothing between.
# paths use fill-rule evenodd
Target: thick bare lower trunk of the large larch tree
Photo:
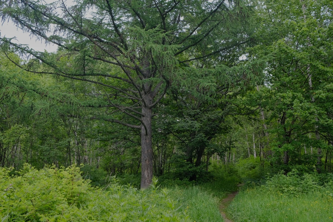
<instances>
[{"instance_id":1,"label":"thick bare lower trunk of the large larch tree","mask_svg":"<svg viewBox=\"0 0 333 222\"><path fill-rule=\"evenodd\" d=\"M141 125L141 189L149 187L153 178L152 109L142 105Z\"/></svg>"}]
</instances>

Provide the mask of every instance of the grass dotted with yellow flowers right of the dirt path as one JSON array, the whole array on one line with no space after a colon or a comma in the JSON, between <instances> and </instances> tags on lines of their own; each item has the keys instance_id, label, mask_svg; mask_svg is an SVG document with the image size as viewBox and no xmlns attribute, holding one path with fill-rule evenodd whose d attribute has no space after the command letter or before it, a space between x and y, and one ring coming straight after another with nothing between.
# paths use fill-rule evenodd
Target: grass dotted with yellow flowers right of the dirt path
<instances>
[{"instance_id":1,"label":"grass dotted with yellow flowers right of the dirt path","mask_svg":"<svg viewBox=\"0 0 333 222\"><path fill-rule=\"evenodd\" d=\"M333 221L332 193L318 191L300 196L267 193L259 188L241 191L229 205L235 222Z\"/></svg>"}]
</instances>

